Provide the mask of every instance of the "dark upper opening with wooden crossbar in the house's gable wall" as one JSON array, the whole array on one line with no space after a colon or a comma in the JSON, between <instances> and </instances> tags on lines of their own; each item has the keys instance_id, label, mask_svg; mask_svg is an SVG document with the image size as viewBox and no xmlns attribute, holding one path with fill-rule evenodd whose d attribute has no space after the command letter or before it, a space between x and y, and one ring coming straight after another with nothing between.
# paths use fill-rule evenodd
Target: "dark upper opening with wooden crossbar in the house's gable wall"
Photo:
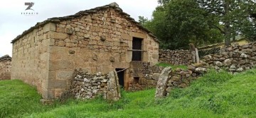
<instances>
[{"instance_id":1,"label":"dark upper opening with wooden crossbar in the house's gable wall","mask_svg":"<svg viewBox=\"0 0 256 118\"><path fill-rule=\"evenodd\" d=\"M142 38L132 37L132 61L142 61Z\"/></svg>"}]
</instances>

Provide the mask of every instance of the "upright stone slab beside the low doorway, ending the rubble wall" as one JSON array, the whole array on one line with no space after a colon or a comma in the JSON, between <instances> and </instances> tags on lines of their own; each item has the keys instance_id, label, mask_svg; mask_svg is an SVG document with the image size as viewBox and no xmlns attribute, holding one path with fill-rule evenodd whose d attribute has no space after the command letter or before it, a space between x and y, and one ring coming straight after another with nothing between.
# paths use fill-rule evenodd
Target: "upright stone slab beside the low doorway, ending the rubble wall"
<instances>
[{"instance_id":1,"label":"upright stone slab beside the low doorway, ending the rubble wall","mask_svg":"<svg viewBox=\"0 0 256 118\"><path fill-rule=\"evenodd\" d=\"M107 100L119 100L121 98L120 87L119 87L119 79L117 76L117 71L110 71L107 74Z\"/></svg>"}]
</instances>

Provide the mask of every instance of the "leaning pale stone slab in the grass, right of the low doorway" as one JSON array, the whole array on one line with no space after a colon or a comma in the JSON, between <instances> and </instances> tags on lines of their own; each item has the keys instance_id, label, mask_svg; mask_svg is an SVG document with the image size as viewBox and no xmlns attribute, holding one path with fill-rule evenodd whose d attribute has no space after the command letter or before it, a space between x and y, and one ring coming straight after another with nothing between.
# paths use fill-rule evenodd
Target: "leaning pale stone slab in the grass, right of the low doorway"
<instances>
[{"instance_id":1,"label":"leaning pale stone slab in the grass, right of the low doorway","mask_svg":"<svg viewBox=\"0 0 256 118\"><path fill-rule=\"evenodd\" d=\"M157 81L155 98L163 98L166 96L166 86L170 73L171 67L166 67L163 71L161 71L159 81Z\"/></svg>"}]
</instances>

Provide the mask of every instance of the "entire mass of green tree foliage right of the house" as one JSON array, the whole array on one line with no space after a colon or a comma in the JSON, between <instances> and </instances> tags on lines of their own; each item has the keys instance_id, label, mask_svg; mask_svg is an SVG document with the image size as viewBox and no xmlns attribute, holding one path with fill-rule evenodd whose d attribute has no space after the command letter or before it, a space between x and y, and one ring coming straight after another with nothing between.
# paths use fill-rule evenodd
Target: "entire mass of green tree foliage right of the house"
<instances>
[{"instance_id":1,"label":"entire mass of green tree foliage right of the house","mask_svg":"<svg viewBox=\"0 0 256 118\"><path fill-rule=\"evenodd\" d=\"M161 41L161 48L186 49L222 42L230 45L230 38L244 35L255 40L253 0L159 0L153 18L139 18L144 27Z\"/></svg>"}]
</instances>

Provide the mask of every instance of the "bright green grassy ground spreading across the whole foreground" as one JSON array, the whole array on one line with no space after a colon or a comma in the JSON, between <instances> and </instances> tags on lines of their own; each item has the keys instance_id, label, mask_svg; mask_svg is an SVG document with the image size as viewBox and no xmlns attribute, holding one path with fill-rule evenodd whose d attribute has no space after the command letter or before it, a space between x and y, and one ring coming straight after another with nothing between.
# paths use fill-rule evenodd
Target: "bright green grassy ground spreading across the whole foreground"
<instances>
[{"instance_id":1,"label":"bright green grassy ground spreading across the whole foreground","mask_svg":"<svg viewBox=\"0 0 256 118\"><path fill-rule=\"evenodd\" d=\"M256 117L256 69L230 75L210 71L188 88L154 100L155 89L122 91L108 102L69 100L44 106L34 88L21 81L0 81L1 117Z\"/></svg>"}]
</instances>

